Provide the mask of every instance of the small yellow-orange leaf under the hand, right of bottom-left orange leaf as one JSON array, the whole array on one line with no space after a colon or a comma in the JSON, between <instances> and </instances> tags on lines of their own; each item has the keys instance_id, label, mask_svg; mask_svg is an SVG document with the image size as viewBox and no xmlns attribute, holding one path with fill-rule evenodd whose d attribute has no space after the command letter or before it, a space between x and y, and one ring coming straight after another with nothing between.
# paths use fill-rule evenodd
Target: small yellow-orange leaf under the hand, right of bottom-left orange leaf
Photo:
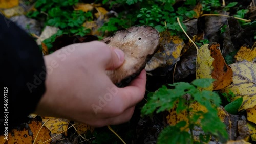
<instances>
[{"instance_id":1,"label":"small yellow-orange leaf under the hand, right of bottom-left orange leaf","mask_svg":"<svg viewBox=\"0 0 256 144\"><path fill-rule=\"evenodd\" d=\"M47 121L47 119L49 120ZM67 128L69 125L69 120L55 117L42 117L42 122L45 123L46 121L47 123L44 126L47 127L52 134L59 134L65 131L63 134L65 136L68 135Z\"/></svg>"}]
</instances>

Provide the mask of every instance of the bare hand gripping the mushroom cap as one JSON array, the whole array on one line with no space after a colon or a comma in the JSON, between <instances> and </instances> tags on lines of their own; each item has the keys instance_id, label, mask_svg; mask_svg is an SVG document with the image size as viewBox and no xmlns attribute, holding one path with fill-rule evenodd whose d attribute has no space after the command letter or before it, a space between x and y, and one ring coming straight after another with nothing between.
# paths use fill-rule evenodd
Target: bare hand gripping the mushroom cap
<instances>
[{"instance_id":1,"label":"bare hand gripping the mushroom cap","mask_svg":"<svg viewBox=\"0 0 256 144\"><path fill-rule=\"evenodd\" d=\"M124 61L121 50L103 42L72 44L44 56L46 92L35 114L66 118L95 127L131 119L145 94L145 70L129 86L116 87L105 70Z\"/></svg>"}]
</instances>

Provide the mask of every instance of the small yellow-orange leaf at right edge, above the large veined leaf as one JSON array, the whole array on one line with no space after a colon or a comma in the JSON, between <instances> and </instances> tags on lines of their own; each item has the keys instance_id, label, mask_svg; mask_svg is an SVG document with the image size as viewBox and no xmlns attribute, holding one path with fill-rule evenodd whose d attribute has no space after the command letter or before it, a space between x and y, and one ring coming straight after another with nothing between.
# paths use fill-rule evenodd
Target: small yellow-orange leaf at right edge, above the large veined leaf
<instances>
[{"instance_id":1,"label":"small yellow-orange leaf at right edge, above the large veined leaf","mask_svg":"<svg viewBox=\"0 0 256 144\"><path fill-rule=\"evenodd\" d=\"M256 47L249 48L246 46L241 46L234 58L237 62L241 62L243 60L254 62L256 61Z\"/></svg>"}]
</instances>

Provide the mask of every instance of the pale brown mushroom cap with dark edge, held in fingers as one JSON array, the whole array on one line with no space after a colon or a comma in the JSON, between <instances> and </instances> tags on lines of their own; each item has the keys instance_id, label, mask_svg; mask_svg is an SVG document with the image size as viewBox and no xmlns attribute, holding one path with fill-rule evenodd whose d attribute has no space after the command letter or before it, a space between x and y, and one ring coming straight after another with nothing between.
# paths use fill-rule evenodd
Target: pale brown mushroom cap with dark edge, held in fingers
<instances>
[{"instance_id":1,"label":"pale brown mushroom cap with dark edge, held in fingers","mask_svg":"<svg viewBox=\"0 0 256 144\"><path fill-rule=\"evenodd\" d=\"M102 41L110 47L121 49L125 54L124 63L115 70L107 70L106 74L113 83L140 74L146 63L158 51L160 35L150 26L134 26L125 31L118 31Z\"/></svg>"}]
</instances>

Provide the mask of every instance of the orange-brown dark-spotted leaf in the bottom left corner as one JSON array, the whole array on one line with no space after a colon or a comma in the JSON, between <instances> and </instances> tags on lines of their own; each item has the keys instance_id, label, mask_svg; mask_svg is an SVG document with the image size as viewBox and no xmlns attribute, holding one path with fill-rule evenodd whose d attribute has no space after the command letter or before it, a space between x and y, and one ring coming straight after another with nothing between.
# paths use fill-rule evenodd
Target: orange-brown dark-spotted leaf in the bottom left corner
<instances>
[{"instance_id":1,"label":"orange-brown dark-spotted leaf in the bottom left corner","mask_svg":"<svg viewBox=\"0 0 256 144\"><path fill-rule=\"evenodd\" d=\"M37 121L36 118L32 119L30 123L23 123L19 129L13 129L8 133L8 140L4 139L4 135L0 136L0 143L43 143L51 139L51 132L42 122ZM40 129L41 128L41 129ZM38 136L36 137L36 135ZM36 138L36 139L35 139ZM45 142L51 143L51 140Z\"/></svg>"}]
</instances>

